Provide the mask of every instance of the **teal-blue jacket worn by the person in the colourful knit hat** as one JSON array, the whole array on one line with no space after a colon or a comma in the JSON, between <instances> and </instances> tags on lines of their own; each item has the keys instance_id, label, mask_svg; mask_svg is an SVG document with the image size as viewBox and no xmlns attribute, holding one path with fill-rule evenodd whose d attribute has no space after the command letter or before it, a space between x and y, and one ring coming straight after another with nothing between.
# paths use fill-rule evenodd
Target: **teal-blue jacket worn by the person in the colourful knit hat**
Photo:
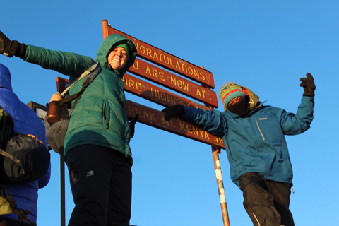
<instances>
[{"instance_id":1,"label":"teal-blue jacket worn by the person in the colourful knit hat","mask_svg":"<svg viewBox=\"0 0 339 226\"><path fill-rule=\"evenodd\" d=\"M182 119L190 121L225 143L234 184L246 172L258 172L265 179L292 184L293 172L285 135L309 129L313 120L314 97L302 97L297 113L263 106L251 90L248 117L230 111L184 107Z\"/></svg>"}]
</instances>

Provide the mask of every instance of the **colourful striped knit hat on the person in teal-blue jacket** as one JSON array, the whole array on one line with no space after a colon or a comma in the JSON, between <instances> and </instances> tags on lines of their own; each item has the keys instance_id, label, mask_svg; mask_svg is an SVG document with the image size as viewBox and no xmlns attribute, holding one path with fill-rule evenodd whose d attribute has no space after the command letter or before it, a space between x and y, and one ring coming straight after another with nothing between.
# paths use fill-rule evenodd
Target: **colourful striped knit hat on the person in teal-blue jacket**
<instances>
[{"instance_id":1,"label":"colourful striped knit hat on the person in teal-blue jacket","mask_svg":"<svg viewBox=\"0 0 339 226\"><path fill-rule=\"evenodd\" d=\"M227 82L219 90L219 96L222 103L227 107L228 103L235 97L245 97L244 90L240 85L233 82Z\"/></svg>"}]
</instances>

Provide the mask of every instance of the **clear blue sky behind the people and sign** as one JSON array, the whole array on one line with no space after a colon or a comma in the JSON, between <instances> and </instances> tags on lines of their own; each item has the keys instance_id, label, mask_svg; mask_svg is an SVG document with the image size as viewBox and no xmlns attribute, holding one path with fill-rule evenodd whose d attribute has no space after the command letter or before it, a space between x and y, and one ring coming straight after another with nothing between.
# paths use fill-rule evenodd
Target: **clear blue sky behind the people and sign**
<instances>
[{"instance_id":1,"label":"clear blue sky behind the people and sign","mask_svg":"<svg viewBox=\"0 0 339 226\"><path fill-rule=\"evenodd\" d=\"M312 73L316 106L311 129L287 136L294 169L290 209L295 224L338 225L338 1L2 1L0 30L9 38L95 58L101 21L213 73L251 88L266 105L296 112L299 78ZM0 56L20 100L44 105L56 91L55 71ZM129 100L163 107L126 93ZM219 106L222 106L219 100ZM222 111L222 107L218 108ZM210 145L136 124L131 224L216 226L222 215ZM59 155L39 191L40 226L60 225ZM251 225L242 192L220 154L230 225ZM66 174L66 221L73 198Z\"/></svg>"}]
</instances>

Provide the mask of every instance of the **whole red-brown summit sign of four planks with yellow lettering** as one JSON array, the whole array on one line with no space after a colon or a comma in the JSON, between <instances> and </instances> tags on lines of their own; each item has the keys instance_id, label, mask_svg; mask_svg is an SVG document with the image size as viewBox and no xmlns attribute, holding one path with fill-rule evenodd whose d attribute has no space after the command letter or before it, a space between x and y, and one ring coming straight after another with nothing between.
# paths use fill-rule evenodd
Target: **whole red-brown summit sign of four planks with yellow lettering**
<instances>
[{"instance_id":1,"label":"whole red-brown summit sign of four planks with yellow lettering","mask_svg":"<svg viewBox=\"0 0 339 226\"><path fill-rule=\"evenodd\" d=\"M129 69L129 73L152 81L164 88L174 90L201 103L181 97L160 86L136 78L129 73L126 73L123 78L127 92L162 106L184 105L187 107L199 107L204 110L218 107L217 95L210 90L214 88L213 73L178 57L174 57L172 54L168 54L150 44L141 42L130 35L126 35L124 32L115 30L108 25L107 20L102 20L102 32L104 38L112 34L121 34L136 44L138 50L137 57L140 58L136 59L133 66ZM165 121L165 113L156 109L126 100L125 110L130 117L139 114L138 121L143 124L208 143L218 148L225 148L221 138L217 138L198 128L198 126L178 118Z\"/></svg>"}]
</instances>

